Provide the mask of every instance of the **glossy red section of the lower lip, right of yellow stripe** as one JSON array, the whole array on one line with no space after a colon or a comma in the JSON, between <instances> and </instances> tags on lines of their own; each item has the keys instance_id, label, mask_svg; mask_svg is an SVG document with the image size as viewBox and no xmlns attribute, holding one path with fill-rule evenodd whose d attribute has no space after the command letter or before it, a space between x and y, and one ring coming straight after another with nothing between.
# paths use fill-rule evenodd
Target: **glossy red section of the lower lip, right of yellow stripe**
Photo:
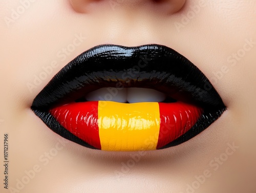
<instances>
[{"instance_id":1,"label":"glossy red section of the lower lip, right of yellow stripe","mask_svg":"<svg viewBox=\"0 0 256 193\"><path fill-rule=\"evenodd\" d=\"M195 105L159 102L160 131L157 149L185 134L198 121L203 109Z\"/></svg>"}]
</instances>

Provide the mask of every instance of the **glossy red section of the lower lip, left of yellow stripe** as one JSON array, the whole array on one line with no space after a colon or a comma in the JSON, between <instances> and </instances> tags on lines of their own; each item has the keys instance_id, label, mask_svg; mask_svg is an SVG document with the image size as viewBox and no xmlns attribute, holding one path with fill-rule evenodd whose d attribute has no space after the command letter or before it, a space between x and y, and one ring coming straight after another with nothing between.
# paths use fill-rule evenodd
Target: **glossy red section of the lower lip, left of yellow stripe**
<instances>
[{"instance_id":1,"label":"glossy red section of the lower lip, left of yellow stripe","mask_svg":"<svg viewBox=\"0 0 256 193\"><path fill-rule=\"evenodd\" d=\"M98 101L70 103L50 110L54 118L73 135L101 149Z\"/></svg>"}]
</instances>

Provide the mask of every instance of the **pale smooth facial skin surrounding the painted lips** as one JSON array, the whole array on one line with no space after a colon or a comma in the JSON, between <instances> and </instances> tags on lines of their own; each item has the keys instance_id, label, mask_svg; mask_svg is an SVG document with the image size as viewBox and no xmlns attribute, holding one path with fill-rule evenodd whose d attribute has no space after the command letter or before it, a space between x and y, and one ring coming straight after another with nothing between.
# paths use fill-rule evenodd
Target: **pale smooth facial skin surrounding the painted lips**
<instances>
[{"instance_id":1,"label":"pale smooth facial skin surrounding the painted lips","mask_svg":"<svg viewBox=\"0 0 256 193\"><path fill-rule=\"evenodd\" d=\"M10 160L1 192L256 192L255 1L38 0L10 20L20 5L0 2L0 141L9 134ZM75 49L62 52L77 36ZM208 77L227 110L196 137L157 151L105 152L63 139L30 106L69 61L101 44L173 48Z\"/></svg>"}]
</instances>

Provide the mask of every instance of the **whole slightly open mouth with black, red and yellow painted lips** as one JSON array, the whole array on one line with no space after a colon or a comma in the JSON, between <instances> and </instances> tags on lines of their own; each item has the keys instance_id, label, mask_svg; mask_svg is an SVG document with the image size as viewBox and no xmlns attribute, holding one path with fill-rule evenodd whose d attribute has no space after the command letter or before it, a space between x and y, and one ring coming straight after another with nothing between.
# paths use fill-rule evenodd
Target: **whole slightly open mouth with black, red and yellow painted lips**
<instances>
[{"instance_id":1,"label":"whole slightly open mouth with black, red and yellow painted lips","mask_svg":"<svg viewBox=\"0 0 256 193\"><path fill-rule=\"evenodd\" d=\"M100 45L63 67L31 109L55 133L105 151L179 145L226 107L207 77L162 45Z\"/></svg>"}]
</instances>

